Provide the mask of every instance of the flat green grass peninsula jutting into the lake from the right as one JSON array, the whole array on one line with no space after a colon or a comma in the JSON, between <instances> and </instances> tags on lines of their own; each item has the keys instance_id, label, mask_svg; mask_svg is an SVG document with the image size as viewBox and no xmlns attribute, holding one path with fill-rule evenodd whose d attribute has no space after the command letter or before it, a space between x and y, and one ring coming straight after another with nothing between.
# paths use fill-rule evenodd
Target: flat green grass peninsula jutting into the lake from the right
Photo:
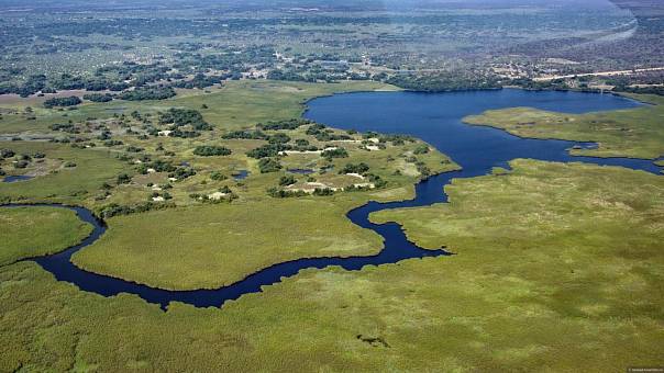
<instances>
[{"instance_id":1,"label":"flat green grass peninsula jutting into the lake from the right","mask_svg":"<svg viewBox=\"0 0 664 373\"><path fill-rule=\"evenodd\" d=\"M664 98L644 94L629 97L649 105L587 114L513 108L467 116L464 122L501 128L522 137L599 144L597 149L572 149L574 155L645 159L661 157L664 155Z\"/></svg>"}]
</instances>

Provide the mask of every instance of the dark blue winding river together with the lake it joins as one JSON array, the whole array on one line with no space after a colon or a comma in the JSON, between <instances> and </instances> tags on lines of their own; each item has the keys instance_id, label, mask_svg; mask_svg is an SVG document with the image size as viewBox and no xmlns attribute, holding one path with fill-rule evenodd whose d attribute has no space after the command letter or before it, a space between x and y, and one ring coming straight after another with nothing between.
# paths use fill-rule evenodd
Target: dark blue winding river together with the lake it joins
<instances>
[{"instance_id":1,"label":"dark blue winding river together with the lake it joins","mask_svg":"<svg viewBox=\"0 0 664 373\"><path fill-rule=\"evenodd\" d=\"M165 291L124 280L84 271L70 262L71 255L95 242L106 231L103 222L88 210L70 208L95 226L93 233L81 244L60 253L33 259L59 281L76 284L84 291L104 296L119 293L136 294L143 299L166 308L170 302L184 302L198 307L221 306L243 294L259 292L264 285L277 283L281 278L295 275L302 269L339 265L358 270L364 265L396 263L411 258L450 255L444 250L425 250L407 240L401 227L395 223L373 224L373 212L411 206L424 206L446 202L443 187L453 178L472 178L490 172L495 166L507 167L516 158L533 158L549 161L583 161L596 165L622 166L630 169L659 173L651 161L627 158L572 157L568 149L593 146L590 143L523 139L502 131L468 126L462 123L466 115L489 109L532 106L567 113L635 108L639 103L615 95L574 92L527 92L520 90L478 91L462 93L425 94L413 92L372 92L337 94L309 102L307 118L337 128L362 132L409 134L435 146L452 157L463 170L429 178L417 184L414 200L394 203L370 202L351 211L347 217L356 225L376 231L385 240L385 247L376 256L353 258L300 259L275 264L261 270L230 286L217 290ZM12 205L16 206L16 205Z\"/></svg>"}]
</instances>

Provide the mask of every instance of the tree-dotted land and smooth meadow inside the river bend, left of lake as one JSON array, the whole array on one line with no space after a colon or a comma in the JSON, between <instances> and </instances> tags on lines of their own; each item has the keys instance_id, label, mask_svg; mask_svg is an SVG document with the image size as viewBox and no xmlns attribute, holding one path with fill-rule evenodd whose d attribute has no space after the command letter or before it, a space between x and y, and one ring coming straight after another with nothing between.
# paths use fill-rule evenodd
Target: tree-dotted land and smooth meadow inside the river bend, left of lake
<instances>
[{"instance_id":1,"label":"tree-dotted land and smooth meadow inside the river bend, left of lake","mask_svg":"<svg viewBox=\"0 0 664 373\"><path fill-rule=\"evenodd\" d=\"M77 165L71 172L80 172L80 180L77 177L52 184L46 180L53 177L48 173L21 185L0 184L0 195L12 201L66 201L91 207L109 221L110 228L102 241L79 252L76 261L91 271L166 289L215 287L302 257L373 253L379 247L378 238L351 225L345 213L369 200L411 197L413 183L424 176L418 162L431 172L457 166L438 151L416 158L413 154L423 143L407 136L345 133L297 118L267 118L299 115L301 102L312 94L379 87L385 86L237 82L217 93L184 93L147 110L128 105L123 113L129 115L113 113L111 118L104 112L117 108L115 101L86 103L77 114L90 118L69 116L71 122L56 122L52 126L58 136L54 143L7 143L14 152L11 159L36 152L45 154L46 160L62 158L63 163ZM236 95L252 99L233 101ZM217 104L221 101L226 104ZM199 112L206 102L211 109ZM158 106L166 103L175 108ZM256 121L242 125L245 118L235 117L235 110L257 115ZM57 114L38 113L37 122L49 115ZM196 138L154 135L174 126L208 129ZM321 142L321 134L325 139L343 142ZM368 143L373 150L367 149ZM259 160L246 156L264 146L291 152ZM202 155L222 148L231 154L192 157L192 149L199 149L195 155ZM323 148L343 149L347 158L325 158L321 150L313 150ZM89 168L86 159L90 157L102 163ZM339 172L348 162L362 165L366 172ZM29 165L26 172L32 168ZM287 172L298 168L314 173ZM65 172L58 167L55 170L54 176ZM228 177L239 170L251 176L242 181ZM73 181L85 188L69 192ZM31 183L40 189L33 191ZM276 200L270 189L296 197ZM139 238L145 245L134 245ZM147 263L152 270L146 272Z\"/></svg>"}]
</instances>

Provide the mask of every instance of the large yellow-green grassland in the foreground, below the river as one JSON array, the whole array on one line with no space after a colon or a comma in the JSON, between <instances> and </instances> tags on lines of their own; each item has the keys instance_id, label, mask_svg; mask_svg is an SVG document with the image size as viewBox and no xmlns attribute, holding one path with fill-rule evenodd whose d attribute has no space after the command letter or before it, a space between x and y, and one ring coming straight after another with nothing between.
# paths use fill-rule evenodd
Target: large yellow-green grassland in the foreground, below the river
<instances>
[{"instance_id":1,"label":"large yellow-green grassland in the foreground, below the river","mask_svg":"<svg viewBox=\"0 0 664 373\"><path fill-rule=\"evenodd\" d=\"M0 268L2 370L555 371L661 363L664 181L532 160L381 212L457 255L307 270L219 310ZM34 299L40 299L35 302ZM164 336L168 336L165 338Z\"/></svg>"}]
</instances>

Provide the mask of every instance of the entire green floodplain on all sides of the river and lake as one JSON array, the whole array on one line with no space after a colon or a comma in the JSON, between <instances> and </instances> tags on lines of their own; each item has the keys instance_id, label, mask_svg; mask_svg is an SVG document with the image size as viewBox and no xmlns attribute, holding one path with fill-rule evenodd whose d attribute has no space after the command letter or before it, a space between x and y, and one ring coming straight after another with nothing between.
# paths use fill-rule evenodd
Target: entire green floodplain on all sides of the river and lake
<instances>
[{"instance_id":1,"label":"entire green floodplain on all sides of the river and lake","mask_svg":"<svg viewBox=\"0 0 664 373\"><path fill-rule=\"evenodd\" d=\"M394 88L240 81L77 110L12 102L0 121L8 137L0 149L14 155L0 168L34 179L0 183L0 199L77 204L106 216L109 230L75 263L162 289L218 287L297 258L375 253L379 237L345 213L369 200L410 197L421 178L456 169L453 160L418 139L265 124L284 126L314 97L385 89ZM584 115L510 109L466 120L521 136L595 140L601 150L590 151L604 156L656 158L664 152L662 102L635 98L653 105ZM163 113L171 108L200 112L211 128L196 137L150 135L166 131ZM217 148L196 151L200 146ZM230 154L209 155L222 148ZM250 156L256 149L268 156ZM455 256L306 270L222 309L174 303L163 312L137 296L107 298L57 282L18 260L65 249L90 227L69 211L0 210L0 371L612 371L661 363L662 177L533 160L511 167L454 181L449 204L372 216ZM235 180L242 170L248 177Z\"/></svg>"}]
</instances>

